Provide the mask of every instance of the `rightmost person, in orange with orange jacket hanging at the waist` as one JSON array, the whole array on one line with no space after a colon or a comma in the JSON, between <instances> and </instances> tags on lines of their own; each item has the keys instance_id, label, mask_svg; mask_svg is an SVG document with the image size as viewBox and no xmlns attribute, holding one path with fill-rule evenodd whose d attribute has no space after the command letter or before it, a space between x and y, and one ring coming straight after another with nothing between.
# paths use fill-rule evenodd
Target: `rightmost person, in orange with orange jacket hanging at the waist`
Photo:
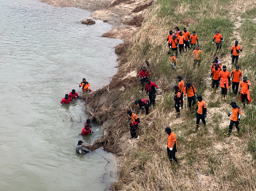
<instances>
[{"instance_id":1,"label":"rightmost person, in orange with orange jacket hanging at the waist","mask_svg":"<svg viewBox=\"0 0 256 191\"><path fill-rule=\"evenodd\" d=\"M239 100L243 103L243 108L245 108L245 100L247 105L252 102L249 87L252 86L251 82L247 79L246 76L243 76L243 81L240 81L238 92L240 94Z\"/></svg>"}]
</instances>

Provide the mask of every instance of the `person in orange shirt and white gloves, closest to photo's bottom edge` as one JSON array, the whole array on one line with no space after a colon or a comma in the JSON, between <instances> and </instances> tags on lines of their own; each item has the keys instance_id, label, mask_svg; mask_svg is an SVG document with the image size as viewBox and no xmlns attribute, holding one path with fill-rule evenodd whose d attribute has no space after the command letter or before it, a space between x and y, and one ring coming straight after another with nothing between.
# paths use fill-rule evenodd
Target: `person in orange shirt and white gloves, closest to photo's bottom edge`
<instances>
[{"instance_id":1,"label":"person in orange shirt and white gloves, closest to photo's bottom edge","mask_svg":"<svg viewBox=\"0 0 256 191\"><path fill-rule=\"evenodd\" d=\"M175 165L175 168L178 168L178 161L177 158L175 157L175 153L177 152L177 139L176 135L170 127L165 128L165 132L167 133L167 142L165 145L165 149L167 149L167 154L170 160L170 164L172 165L172 162Z\"/></svg>"}]
</instances>

